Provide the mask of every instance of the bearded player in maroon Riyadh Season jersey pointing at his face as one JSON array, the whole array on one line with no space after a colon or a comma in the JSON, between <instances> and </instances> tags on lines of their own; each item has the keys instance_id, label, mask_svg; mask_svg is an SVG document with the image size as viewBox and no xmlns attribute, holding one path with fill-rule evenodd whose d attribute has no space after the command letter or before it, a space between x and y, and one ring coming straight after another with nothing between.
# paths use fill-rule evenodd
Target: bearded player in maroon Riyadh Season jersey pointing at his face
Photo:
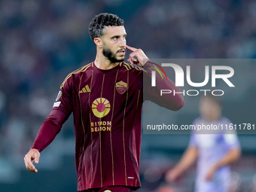
<instances>
[{"instance_id":1,"label":"bearded player in maroon Riyadh Season jersey pointing at his face","mask_svg":"<svg viewBox=\"0 0 256 192\"><path fill-rule=\"evenodd\" d=\"M141 49L126 45L126 31L119 17L99 14L90 23L89 31L96 44L96 59L63 81L53 109L24 161L29 171L38 172L33 162L38 163L40 152L73 112L78 191L131 192L141 187L143 100L176 111L184 105L183 96L160 96L161 89L180 91L160 75L157 87L151 87L154 69L150 66L154 63ZM126 49L132 51L128 59L131 65L123 62ZM147 94L143 97L143 93Z\"/></svg>"}]
</instances>

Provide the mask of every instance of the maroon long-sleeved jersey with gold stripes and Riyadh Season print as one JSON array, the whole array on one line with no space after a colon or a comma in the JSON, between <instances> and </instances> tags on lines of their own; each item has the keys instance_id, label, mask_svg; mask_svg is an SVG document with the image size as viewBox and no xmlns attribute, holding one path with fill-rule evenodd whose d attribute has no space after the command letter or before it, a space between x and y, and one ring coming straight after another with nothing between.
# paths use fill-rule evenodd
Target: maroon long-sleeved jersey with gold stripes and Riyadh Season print
<instances>
[{"instance_id":1,"label":"maroon long-sleeved jersey with gold stripes and Riyadh Season print","mask_svg":"<svg viewBox=\"0 0 256 192\"><path fill-rule=\"evenodd\" d=\"M141 187L143 93L147 93L144 99L171 110L184 104L182 94L160 96L161 89L180 92L169 79L157 75L159 83L151 87L149 66L154 63L147 62L141 69L120 62L113 69L102 70L92 62L63 81L32 148L46 148L73 112L78 190L112 185Z\"/></svg>"}]
</instances>

